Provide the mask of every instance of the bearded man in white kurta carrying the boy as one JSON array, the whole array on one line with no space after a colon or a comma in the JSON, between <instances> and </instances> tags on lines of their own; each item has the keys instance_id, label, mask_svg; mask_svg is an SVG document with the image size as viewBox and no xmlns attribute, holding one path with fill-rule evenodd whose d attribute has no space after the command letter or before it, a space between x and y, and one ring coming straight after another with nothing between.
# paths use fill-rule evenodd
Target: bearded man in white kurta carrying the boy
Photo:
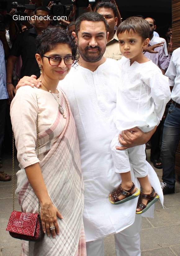
<instances>
[{"instance_id":1,"label":"bearded man in white kurta carrying the boy","mask_svg":"<svg viewBox=\"0 0 180 256\"><path fill-rule=\"evenodd\" d=\"M69 99L79 137L85 184L83 221L87 256L103 256L103 237L113 233L117 256L140 256L141 217L135 218L137 200L118 207L108 201L109 191L120 184L110 153L110 142L117 132L113 117L120 72L115 60L103 57L107 31L108 25L102 15L88 12L79 16L73 33L78 43L79 66L72 68L59 86ZM34 77L25 77L17 87L23 82L25 85L38 85ZM133 133L122 133L124 140L119 138L124 146L121 149L144 144L154 132L144 134L138 128L132 130ZM149 178L161 197L159 180L152 167L147 165ZM137 185L133 171L131 174ZM148 216L152 217L152 211L150 208Z\"/></svg>"}]
</instances>

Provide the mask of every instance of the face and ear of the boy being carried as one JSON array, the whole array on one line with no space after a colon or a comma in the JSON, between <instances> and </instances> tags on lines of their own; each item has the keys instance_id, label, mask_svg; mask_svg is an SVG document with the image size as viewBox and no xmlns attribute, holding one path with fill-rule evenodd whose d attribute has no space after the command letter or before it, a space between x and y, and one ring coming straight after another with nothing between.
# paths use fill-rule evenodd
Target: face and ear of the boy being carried
<instances>
[{"instance_id":1,"label":"face and ear of the boy being carried","mask_svg":"<svg viewBox=\"0 0 180 256\"><path fill-rule=\"evenodd\" d=\"M133 31L118 34L119 47L122 55L128 59L142 54L143 48L148 45L149 39L142 39L142 37Z\"/></svg>"}]
</instances>

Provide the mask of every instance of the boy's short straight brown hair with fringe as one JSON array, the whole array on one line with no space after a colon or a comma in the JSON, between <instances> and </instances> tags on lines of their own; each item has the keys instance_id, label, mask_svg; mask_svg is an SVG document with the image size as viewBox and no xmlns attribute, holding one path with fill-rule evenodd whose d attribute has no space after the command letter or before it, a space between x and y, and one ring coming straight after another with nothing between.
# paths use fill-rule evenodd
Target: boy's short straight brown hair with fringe
<instances>
[{"instance_id":1,"label":"boy's short straight brown hair with fringe","mask_svg":"<svg viewBox=\"0 0 180 256\"><path fill-rule=\"evenodd\" d=\"M146 20L140 17L129 17L119 25L117 35L124 33L125 31L128 33L133 31L134 33L139 34L142 39L146 39L149 38L150 30L150 25Z\"/></svg>"}]
</instances>

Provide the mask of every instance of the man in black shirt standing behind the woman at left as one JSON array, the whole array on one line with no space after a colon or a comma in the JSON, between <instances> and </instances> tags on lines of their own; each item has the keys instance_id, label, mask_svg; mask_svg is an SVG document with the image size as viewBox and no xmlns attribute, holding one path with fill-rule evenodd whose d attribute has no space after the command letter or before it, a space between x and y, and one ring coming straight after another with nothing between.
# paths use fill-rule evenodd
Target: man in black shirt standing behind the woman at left
<instances>
[{"instance_id":1,"label":"man in black shirt standing behind the woman at left","mask_svg":"<svg viewBox=\"0 0 180 256\"><path fill-rule=\"evenodd\" d=\"M24 75L33 75L37 77L40 75L38 63L35 58L36 54L36 44L35 39L46 29L49 22L46 20L47 15L49 15L49 10L46 7L38 7L35 10L35 15L38 17L34 21L34 28L26 30L25 32L18 35L15 43L11 48L10 56L7 59L7 92L10 100L13 99L13 92L15 93L15 88L12 84L12 72L15 66L16 60L19 56L22 58L22 67L20 77ZM42 18L39 19L39 17ZM43 19L43 20L42 20Z\"/></svg>"}]
</instances>

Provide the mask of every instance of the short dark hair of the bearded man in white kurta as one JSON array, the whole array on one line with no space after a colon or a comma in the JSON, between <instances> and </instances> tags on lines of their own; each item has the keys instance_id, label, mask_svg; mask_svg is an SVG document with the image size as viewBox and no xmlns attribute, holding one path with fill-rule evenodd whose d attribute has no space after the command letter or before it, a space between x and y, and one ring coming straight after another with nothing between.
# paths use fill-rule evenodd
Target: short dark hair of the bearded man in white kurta
<instances>
[{"instance_id":1,"label":"short dark hair of the bearded man in white kurta","mask_svg":"<svg viewBox=\"0 0 180 256\"><path fill-rule=\"evenodd\" d=\"M109 25L107 24L107 21L101 14L99 14L97 12L85 12L85 13L81 14L76 20L75 33L77 36L78 36L78 32L80 30L80 25L81 25L82 21L94 21L94 22L103 21L106 31L109 30Z\"/></svg>"}]
</instances>

